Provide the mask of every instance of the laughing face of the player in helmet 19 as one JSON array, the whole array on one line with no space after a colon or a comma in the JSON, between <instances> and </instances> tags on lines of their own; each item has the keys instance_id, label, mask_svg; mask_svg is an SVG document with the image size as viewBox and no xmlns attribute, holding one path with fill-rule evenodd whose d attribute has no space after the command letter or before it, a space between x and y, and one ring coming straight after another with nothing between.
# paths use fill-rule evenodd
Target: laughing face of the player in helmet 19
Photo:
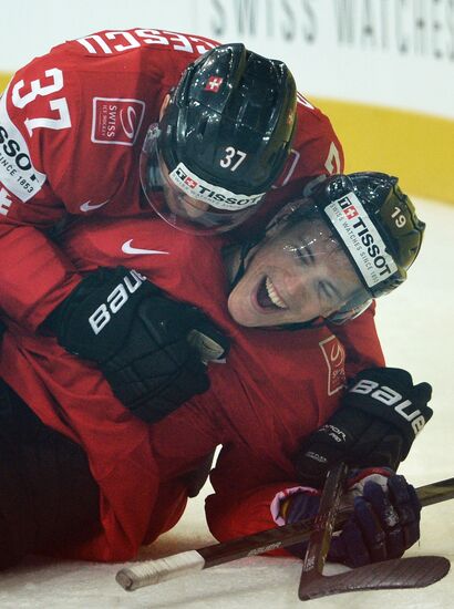
<instances>
[{"instance_id":1,"label":"laughing face of the player in helmet 19","mask_svg":"<svg viewBox=\"0 0 454 609\"><path fill-rule=\"evenodd\" d=\"M298 323L330 316L360 289L353 267L324 223L300 220L249 252L228 310L247 327Z\"/></svg>"}]
</instances>

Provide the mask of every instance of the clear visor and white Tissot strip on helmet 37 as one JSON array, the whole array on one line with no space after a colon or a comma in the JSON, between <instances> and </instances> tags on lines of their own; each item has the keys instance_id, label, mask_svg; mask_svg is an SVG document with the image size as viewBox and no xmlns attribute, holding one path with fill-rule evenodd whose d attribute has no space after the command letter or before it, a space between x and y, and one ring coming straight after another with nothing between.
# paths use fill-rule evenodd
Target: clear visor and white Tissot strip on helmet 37
<instances>
[{"instance_id":1,"label":"clear visor and white Tissot strip on helmet 37","mask_svg":"<svg viewBox=\"0 0 454 609\"><path fill-rule=\"evenodd\" d=\"M209 235L230 230L254 214L265 193L231 193L202 179L184 163L169 171L159 154L159 133L157 124L148 128L140 172L145 196L164 220L186 233Z\"/></svg>"}]
</instances>

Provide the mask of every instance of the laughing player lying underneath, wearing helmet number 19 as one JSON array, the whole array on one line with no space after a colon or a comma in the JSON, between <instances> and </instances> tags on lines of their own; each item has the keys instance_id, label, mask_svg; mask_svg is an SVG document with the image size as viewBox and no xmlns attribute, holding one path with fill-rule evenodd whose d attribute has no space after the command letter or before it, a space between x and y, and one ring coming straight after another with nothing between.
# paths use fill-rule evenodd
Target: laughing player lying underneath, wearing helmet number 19
<instances>
[{"instance_id":1,"label":"laughing player lying underneath, wearing helmet number 19","mask_svg":"<svg viewBox=\"0 0 454 609\"><path fill-rule=\"evenodd\" d=\"M2 520L14 525L0 529L4 556L135 556L178 520L193 492L190 473L218 445L206 513L219 539L306 514L311 474L321 475L333 458L353 454L351 464L395 471L431 416L430 391L404 371L383 368L370 301L405 279L423 229L396 179L383 174L330 178L311 199L285 207L265 235L238 245L180 233L161 219L69 227L60 246L84 279L48 320L60 344L17 328L1 345L9 399L16 392L22 400L4 416L3 434L20 429L24 404L54 430L44 432L35 420L39 433L16 433L22 437L10 441L2 460L4 486L14 489L0 505ZM208 365L209 391L178 407L175 362L185 367L179 358L193 329L207 339L205 352L219 342L226 361ZM147 368L151 352L155 367ZM355 376L362 389L345 393ZM142 384L155 400L142 399ZM379 385L391 392L388 401L369 395ZM407 401L404 414L394 411L396 395ZM391 498L373 487L364 502L374 524L362 560L383 557L390 538L393 556L417 538L417 502L398 483ZM401 516L393 524L390 504ZM357 544L358 522L349 535Z\"/></svg>"}]
</instances>

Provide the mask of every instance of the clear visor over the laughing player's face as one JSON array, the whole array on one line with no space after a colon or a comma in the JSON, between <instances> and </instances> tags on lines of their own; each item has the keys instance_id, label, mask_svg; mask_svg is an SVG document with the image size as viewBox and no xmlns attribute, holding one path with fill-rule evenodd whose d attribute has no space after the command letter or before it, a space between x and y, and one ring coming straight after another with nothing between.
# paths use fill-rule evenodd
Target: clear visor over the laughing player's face
<instances>
[{"instance_id":1,"label":"clear visor over the laughing player's face","mask_svg":"<svg viewBox=\"0 0 454 609\"><path fill-rule=\"evenodd\" d=\"M269 311L275 307L285 323L319 317L342 323L369 307L371 293L336 231L307 203L307 211L291 213L290 206L258 246L251 265L261 265L265 278L257 302Z\"/></svg>"}]
</instances>

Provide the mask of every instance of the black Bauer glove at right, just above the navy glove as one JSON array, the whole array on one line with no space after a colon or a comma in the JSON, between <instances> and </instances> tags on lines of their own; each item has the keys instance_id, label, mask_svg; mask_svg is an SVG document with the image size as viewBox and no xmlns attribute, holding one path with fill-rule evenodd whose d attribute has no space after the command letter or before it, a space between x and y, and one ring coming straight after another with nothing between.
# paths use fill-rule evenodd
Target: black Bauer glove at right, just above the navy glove
<instances>
[{"instance_id":1,"label":"black Bauer glove at right, just above the navy glove","mask_svg":"<svg viewBox=\"0 0 454 609\"><path fill-rule=\"evenodd\" d=\"M431 395L431 385L413 385L405 370L363 370L350 384L341 407L303 442L296 457L298 475L321 486L339 461L351 467L395 472L432 416Z\"/></svg>"}]
</instances>

